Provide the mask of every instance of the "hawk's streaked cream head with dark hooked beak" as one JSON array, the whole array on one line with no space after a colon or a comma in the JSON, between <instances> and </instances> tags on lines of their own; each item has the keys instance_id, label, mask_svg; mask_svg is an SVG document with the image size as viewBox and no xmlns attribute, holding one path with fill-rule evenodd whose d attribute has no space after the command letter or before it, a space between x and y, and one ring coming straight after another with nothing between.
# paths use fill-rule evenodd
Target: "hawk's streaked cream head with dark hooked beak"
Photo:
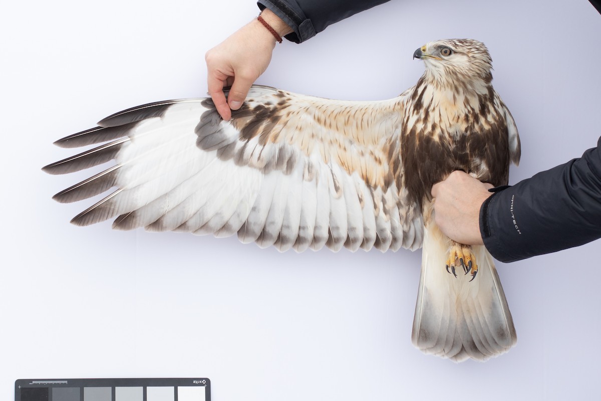
<instances>
[{"instance_id":1,"label":"hawk's streaked cream head with dark hooked beak","mask_svg":"<svg viewBox=\"0 0 601 401\"><path fill-rule=\"evenodd\" d=\"M451 86L486 87L492 81L492 59L484 43L473 39L445 39L424 44L413 53L426 64L426 78Z\"/></svg>"}]
</instances>

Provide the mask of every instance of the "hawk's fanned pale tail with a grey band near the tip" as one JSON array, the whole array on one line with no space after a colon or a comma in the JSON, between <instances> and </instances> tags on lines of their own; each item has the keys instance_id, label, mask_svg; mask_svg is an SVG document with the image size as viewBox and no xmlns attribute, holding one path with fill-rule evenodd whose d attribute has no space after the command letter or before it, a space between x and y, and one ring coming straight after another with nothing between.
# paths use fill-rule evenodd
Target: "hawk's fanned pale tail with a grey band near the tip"
<instances>
[{"instance_id":1,"label":"hawk's fanned pale tail with a grey band near the tip","mask_svg":"<svg viewBox=\"0 0 601 401\"><path fill-rule=\"evenodd\" d=\"M478 273L447 272L451 240L426 222L412 342L426 354L456 362L486 361L516 344L516 330L492 256L474 246Z\"/></svg>"}]
</instances>

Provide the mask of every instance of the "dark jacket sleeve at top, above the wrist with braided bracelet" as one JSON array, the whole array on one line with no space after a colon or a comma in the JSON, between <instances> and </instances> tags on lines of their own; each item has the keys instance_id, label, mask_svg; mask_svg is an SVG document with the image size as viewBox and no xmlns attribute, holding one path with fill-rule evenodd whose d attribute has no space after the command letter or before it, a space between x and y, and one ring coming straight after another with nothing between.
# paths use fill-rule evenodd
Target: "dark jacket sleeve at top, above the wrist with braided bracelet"
<instances>
[{"instance_id":1,"label":"dark jacket sleeve at top, above the wrist with braided bracelet","mask_svg":"<svg viewBox=\"0 0 601 401\"><path fill-rule=\"evenodd\" d=\"M389 0L258 0L261 10L269 8L294 30L288 40L301 43L328 25Z\"/></svg>"}]
</instances>

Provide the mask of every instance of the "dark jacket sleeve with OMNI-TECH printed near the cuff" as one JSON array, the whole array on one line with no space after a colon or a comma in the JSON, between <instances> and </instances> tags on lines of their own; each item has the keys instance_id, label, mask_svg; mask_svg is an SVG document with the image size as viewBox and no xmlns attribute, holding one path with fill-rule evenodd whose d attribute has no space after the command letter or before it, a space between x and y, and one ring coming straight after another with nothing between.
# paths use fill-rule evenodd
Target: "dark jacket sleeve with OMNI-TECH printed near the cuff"
<instances>
[{"instance_id":1,"label":"dark jacket sleeve with OMNI-TECH printed near the cuff","mask_svg":"<svg viewBox=\"0 0 601 401\"><path fill-rule=\"evenodd\" d=\"M601 238L601 138L582 158L493 194L480 209L480 231L501 262Z\"/></svg>"}]
</instances>

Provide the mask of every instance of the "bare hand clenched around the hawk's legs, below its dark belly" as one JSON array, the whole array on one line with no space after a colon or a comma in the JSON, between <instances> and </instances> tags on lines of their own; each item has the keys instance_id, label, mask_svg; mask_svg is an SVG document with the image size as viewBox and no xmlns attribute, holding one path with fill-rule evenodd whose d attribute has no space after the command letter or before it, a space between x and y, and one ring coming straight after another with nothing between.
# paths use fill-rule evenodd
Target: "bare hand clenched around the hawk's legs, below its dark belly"
<instances>
[{"instance_id":1,"label":"bare hand clenched around the hawk's legs, below its dark belly","mask_svg":"<svg viewBox=\"0 0 601 401\"><path fill-rule=\"evenodd\" d=\"M432 186L435 221L452 240L466 245L484 245L480 234L480 207L493 188L464 173L453 171Z\"/></svg>"}]
</instances>

